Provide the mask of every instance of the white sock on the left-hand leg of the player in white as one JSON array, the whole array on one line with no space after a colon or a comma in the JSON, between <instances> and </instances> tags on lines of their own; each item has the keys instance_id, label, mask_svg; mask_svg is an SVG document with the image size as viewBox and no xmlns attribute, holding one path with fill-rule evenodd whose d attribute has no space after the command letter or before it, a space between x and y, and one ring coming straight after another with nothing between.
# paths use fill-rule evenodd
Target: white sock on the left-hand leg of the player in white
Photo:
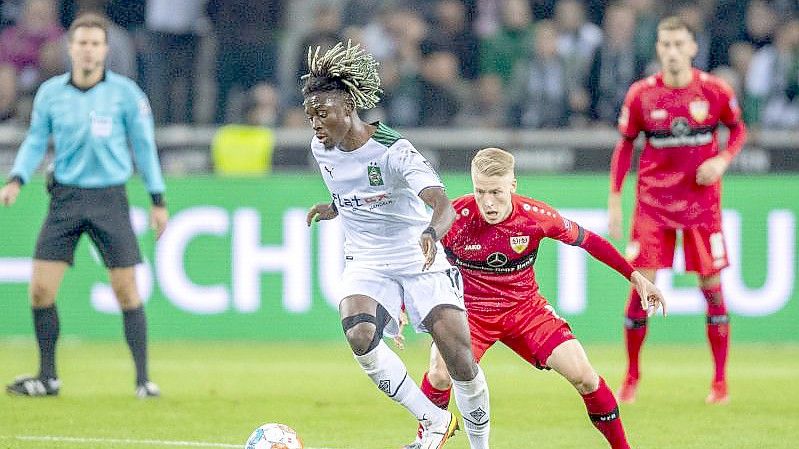
<instances>
[{"instance_id":1,"label":"white sock on the left-hand leg of the player in white","mask_svg":"<svg viewBox=\"0 0 799 449\"><path fill-rule=\"evenodd\" d=\"M384 341L381 340L377 347L368 353L356 355L355 360L361 364L361 368L380 391L402 404L417 420L428 420L436 424L449 420L449 413L436 407L435 404L427 399L422 390L416 385L416 382L408 376L405 364ZM480 376L482 376L482 373L478 374L478 377ZM485 388L485 378L480 378L483 379L481 391L486 392L485 403L487 406L488 390ZM477 382L477 379L470 382ZM487 419L488 417L486 417Z\"/></svg>"}]
</instances>

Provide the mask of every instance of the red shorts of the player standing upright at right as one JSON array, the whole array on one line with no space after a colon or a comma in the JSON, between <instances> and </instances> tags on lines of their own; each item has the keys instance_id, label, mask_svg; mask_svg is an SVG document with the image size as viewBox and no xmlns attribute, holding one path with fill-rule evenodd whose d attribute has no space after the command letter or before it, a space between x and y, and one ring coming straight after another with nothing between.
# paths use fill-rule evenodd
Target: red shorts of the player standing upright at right
<instances>
[{"instance_id":1,"label":"red shorts of the player standing upright at right","mask_svg":"<svg viewBox=\"0 0 799 449\"><path fill-rule=\"evenodd\" d=\"M729 266L721 223L709 228L677 230L636 220L627 246L627 260L635 268L670 268L678 233L682 234L686 271L711 276Z\"/></svg>"}]
</instances>

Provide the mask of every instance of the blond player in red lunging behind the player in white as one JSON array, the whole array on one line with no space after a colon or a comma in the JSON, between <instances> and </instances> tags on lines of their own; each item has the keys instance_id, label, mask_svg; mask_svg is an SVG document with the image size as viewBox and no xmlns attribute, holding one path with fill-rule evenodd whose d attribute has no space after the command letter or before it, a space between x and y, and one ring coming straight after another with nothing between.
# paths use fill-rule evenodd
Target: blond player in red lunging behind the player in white
<instances>
[{"instance_id":1,"label":"blond player in red lunging behind the player in white","mask_svg":"<svg viewBox=\"0 0 799 449\"><path fill-rule=\"evenodd\" d=\"M630 281L645 298L642 309L650 314L662 306L665 315L665 301L607 240L561 217L546 203L517 195L513 166L513 155L498 148L475 155L474 194L452 202L458 218L441 240L447 259L463 277L474 357L479 362L499 341L536 368L555 370L580 393L588 416L610 446L629 448L613 393L594 371L569 324L538 290L533 264L539 243L551 238L588 251ZM450 383L434 346L422 391L446 408Z\"/></svg>"}]
</instances>

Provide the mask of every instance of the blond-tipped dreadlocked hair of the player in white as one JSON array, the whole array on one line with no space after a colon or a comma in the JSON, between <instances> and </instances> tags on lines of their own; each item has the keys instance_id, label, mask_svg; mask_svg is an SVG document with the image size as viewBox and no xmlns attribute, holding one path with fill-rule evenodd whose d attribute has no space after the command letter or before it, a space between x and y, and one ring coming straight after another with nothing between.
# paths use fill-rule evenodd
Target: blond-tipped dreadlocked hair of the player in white
<instances>
[{"instance_id":1,"label":"blond-tipped dreadlocked hair of the player in white","mask_svg":"<svg viewBox=\"0 0 799 449\"><path fill-rule=\"evenodd\" d=\"M300 78L305 80L302 94L342 90L350 94L359 109L375 107L380 101L378 94L383 91L374 56L352 41L347 41L346 47L339 42L324 54L321 52L321 47L308 47L309 73Z\"/></svg>"}]
</instances>

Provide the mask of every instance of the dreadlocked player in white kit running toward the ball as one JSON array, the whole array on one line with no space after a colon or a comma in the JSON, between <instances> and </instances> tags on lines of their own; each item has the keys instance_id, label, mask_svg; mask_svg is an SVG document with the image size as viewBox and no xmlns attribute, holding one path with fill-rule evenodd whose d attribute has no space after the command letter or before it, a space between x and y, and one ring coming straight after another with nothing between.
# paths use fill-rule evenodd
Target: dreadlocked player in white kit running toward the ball
<instances>
[{"instance_id":1,"label":"dreadlocked player in white kit running toward the ball","mask_svg":"<svg viewBox=\"0 0 799 449\"><path fill-rule=\"evenodd\" d=\"M311 150L332 202L313 206L307 221L341 218L339 312L355 359L422 424L419 447L441 448L456 418L422 394L382 339L384 332L397 335L404 304L417 332L429 332L446 361L472 449L487 449L488 386L472 355L460 273L438 243L455 219L444 186L410 142L359 118L357 110L374 107L381 92L372 55L339 43L325 53L309 49L308 67L302 94L314 130Z\"/></svg>"}]
</instances>

